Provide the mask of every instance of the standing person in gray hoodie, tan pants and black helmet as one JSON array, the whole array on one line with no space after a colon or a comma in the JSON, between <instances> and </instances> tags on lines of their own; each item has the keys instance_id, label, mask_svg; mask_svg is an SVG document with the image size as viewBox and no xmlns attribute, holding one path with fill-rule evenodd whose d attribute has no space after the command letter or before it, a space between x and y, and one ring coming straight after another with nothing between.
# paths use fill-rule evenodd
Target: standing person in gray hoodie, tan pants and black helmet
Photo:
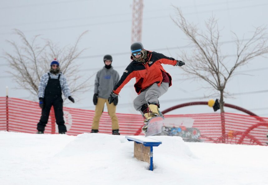
<instances>
[{"instance_id":1,"label":"standing person in gray hoodie, tan pants and black helmet","mask_svg":"<svg viewBox=\"0 0 268 185\"><path fill-rule=\"evenodd\" d=\"M105 66L103 69L98 71L95 78L93 103L96 105L96 107L91 133L98 133L100 117L103 113L104 104L106 103L109 116L112 119L112 134L120 135L118 119L115 114L118 97L114 99L113 104L108 103L109 94L112 91L114 85L119 81L120 76L118 72L112 68L111 55L105 55L103 57L103 62Z\"/></svg>"}]
</instances>

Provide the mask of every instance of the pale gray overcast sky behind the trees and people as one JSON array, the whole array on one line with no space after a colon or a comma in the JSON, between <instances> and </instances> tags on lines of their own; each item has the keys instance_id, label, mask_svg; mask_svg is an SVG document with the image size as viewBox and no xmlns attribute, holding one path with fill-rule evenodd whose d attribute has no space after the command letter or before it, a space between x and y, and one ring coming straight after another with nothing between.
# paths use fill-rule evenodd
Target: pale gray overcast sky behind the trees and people
<instances>
[{"instance_id":1,"label":"pale gray overcast sky behind the trees and people","mask_svg":"<svg viewBox=\"0 0 268 185\"><path fill-rule=\"evenodd\" d=\"M147 50L153 50L164 55L179 59L178 55L184 50L188 53L192 48L187 47L189 40L173 23L170 17L175 17L172 5L180 7L186 19L198 24L204 30L204 21L211 15L218 19L221 28L221 42L233 40L232 32L240 39L250 38L254 27L267 25L267 7L265 0L144 0L142 43ZM130 62L132 1L131 0L3 0L0 2L0 43L1 56L3 50L13 52L5 40L14 40L21 44L18 36L12 34L16 28L24 32L28 39L41 34L42 38L58 43L60 47L72 45L84 31L89 33L79 43L79 49L88 48L75 62L80 66L79 73L90 76L103 67L103 56L111 54L112 66L120 76ZM40 40L40 44L43 44ZM236 53L232 42L223 44L223 55L229 55L227 60L232 62ZM60 62L60 61L59 61ZM187 65L187 61L184 61ZM49 70L48 66L48 70ZM185 102L208 101L202 98L211 91L203 89L207 83L191 81L182 75L179 67L164 65L173 78L169 91L160 97L161 110ZM9 97L32 99L29 92L16 90L19 87L10 74L7 61L0 58L0 96L6 95L9 87ZM237 69L237 74L227 84L226 90L233 94L226 98L226 103L248 109L259 116L268 116L268 63L267 58L258 57L246 66ZM94 83L92 78L92 84ZM68 77L67 77L68 80ZM117 112L138 113L132 106L136 97L133 82L130 82L120 92ZM130 96L131 95L131 96ZM74 99L80 101L66 104L67 107L94 110L92 102L93 88ZM212 97L215 99L215 97ZM36 101L38 98L36 97ZM106 111L106 108L105 110ZM227 112L241 113L226 108ZM208 106L192 106L181 108L170 113L192 114L213 112Z\"/></svg>"}]
</instances>

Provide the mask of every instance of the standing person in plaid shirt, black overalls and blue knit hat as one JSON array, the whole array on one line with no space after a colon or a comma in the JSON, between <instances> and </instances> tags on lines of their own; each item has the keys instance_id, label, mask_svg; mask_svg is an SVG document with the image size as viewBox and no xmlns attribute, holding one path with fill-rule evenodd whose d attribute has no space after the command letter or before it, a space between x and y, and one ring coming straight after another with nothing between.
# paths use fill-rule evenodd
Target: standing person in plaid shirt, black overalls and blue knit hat
<instances>
[{"instance_id":1,"label":"standing person in plaid shirt, black overalls and blue knit hat","mask_svg":"<svg viewBox=\"0 0 268 185\"><path fill-rule=\"evenodd\" d=\"M54 59L50 64L50 72L41 77L38 98L39 106L42 109L42 115L37 124L37 134L44 134L45 126L48 121L51 106L54 107L56 123L60 134L67 132L63 119L63 100L62 92L65 97L74 103L74 98L71 97L65 76L60 72L59 61Z\"/></svg>"}]
</instances>

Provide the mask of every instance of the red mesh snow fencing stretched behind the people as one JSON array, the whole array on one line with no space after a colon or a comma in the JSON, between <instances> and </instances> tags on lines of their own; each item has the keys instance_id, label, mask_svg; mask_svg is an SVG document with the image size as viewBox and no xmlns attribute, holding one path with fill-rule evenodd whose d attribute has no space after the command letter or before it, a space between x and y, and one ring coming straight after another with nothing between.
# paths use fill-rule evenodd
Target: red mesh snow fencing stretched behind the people
<instances>
[{"instance_id":1,"label":"red mesh snow fencing stretched behind the people","mask_svg":"<svg viewBox=\"0 0 268 185\"><path fill-rule=\"evenodd\" d=\"M94 111L64 107L68 135L91 131ZM0 97L0 130L36 133L41 116L38 102ZM141 132L143 117L140 114L117 113L121 135L144 135ZM220 113L165 115L162 133L181 136L185 141L247 145L267 145L268 118L224 113L224 127ZM46 134L58 133L53 108L45 127ZM111 119L103 112L99 133L112 134Z\"/></svg>"}]
</instances>

